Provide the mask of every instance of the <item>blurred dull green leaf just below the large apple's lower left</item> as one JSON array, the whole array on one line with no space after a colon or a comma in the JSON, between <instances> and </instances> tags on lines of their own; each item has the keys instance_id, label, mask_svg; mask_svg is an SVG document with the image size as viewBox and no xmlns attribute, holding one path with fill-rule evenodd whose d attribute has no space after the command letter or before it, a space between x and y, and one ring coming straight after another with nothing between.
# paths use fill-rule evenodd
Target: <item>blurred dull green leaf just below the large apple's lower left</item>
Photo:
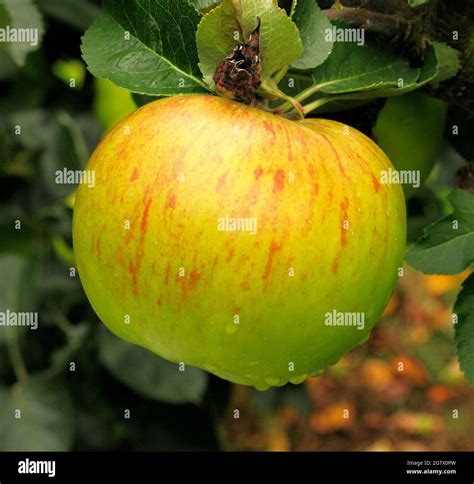
<instances>
[{"instance_id":1,"label":"blurred dull green leaf just below the large apple's lower left","mask_svg":"<svg viewBox=\"0 0 474 484\"><path fill-rule=\"evenodd\" d=\"M137 393L168 403L199 403L206 390L207 375L175 363L148 350L127 343L110 333L99 338L99 359L119 381Z\"/></svg>"}]
</instances>

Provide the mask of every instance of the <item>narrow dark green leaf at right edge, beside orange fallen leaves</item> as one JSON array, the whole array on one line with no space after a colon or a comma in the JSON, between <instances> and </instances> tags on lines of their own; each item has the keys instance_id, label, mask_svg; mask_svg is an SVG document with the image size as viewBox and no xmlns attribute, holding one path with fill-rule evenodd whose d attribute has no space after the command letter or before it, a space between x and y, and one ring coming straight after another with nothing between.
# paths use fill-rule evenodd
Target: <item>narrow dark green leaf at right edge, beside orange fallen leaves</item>
<instances>
[{"instance_id":1,"label":"narrow dark green leaf at right edge, beside orange fallen leaves","mask_svg":"<svg viewBox=\"0 0 474 484\"><path fill-rule=\"evenodd\" d=\"M458 322L454 326L459 365L474 386L474 274L463 283L454 305Z\"/></svg>"}]
</instances>

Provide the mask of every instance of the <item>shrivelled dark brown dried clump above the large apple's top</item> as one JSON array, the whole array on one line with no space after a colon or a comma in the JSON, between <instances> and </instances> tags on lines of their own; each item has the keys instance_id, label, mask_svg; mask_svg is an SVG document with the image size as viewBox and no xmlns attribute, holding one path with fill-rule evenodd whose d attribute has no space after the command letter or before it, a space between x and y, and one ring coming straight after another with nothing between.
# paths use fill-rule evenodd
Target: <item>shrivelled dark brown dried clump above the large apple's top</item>
<instances>
[{"instance_id":1,"label":"shrivelled dark brown dried clump above the large apple's top","mask_svg":"<svg viewBox=\"0 0 474 484\"><path fill-rule=\"evenodd\" d=\"M235 99L246 104L255 101L257 89L262 83L260 63L260 18L249 41L235 47L231 55L219 62L214 74L216 92L219 96Z\"/></svg>"}]
</instances>

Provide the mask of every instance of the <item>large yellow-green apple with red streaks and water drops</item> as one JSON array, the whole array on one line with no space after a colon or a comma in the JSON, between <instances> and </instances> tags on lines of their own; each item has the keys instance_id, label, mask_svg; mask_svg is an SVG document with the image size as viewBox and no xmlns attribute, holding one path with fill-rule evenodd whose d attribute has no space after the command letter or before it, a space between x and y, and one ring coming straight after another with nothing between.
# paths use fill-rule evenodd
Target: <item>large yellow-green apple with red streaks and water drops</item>
<instances>
[{"instance_id":1,"label":"large yellow-green apple with red streaks and water drops","mask_svg":"<svg viewBox=\"0 0 474 484\"><path fill-rule=\"evenodd\" d=\"M93 153L96 186L79 187L74 210L76 264L100 319L261 390L320 374L365 341L404 258L405 201L379 183L384 153L347 129L202 95L124 118ZM256 234L219 231L226 216L256 218ZM364 313L364 329L326 326L334 310Z\"/></svg>"}]
</instances>

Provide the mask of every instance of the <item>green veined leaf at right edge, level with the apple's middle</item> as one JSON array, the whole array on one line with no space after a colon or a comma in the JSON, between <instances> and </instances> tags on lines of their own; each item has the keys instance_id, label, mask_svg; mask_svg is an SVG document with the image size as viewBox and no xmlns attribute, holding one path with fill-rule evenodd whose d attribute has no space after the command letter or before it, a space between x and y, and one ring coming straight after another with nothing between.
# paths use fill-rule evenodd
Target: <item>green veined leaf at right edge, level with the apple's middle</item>
<instances>
[{"instance_id":1,"label":"green veined leaf at right edge, level with the apple's middle","mask_svg":"<svg viewBox=\"0 0 474 484\"><path fill-rule=\"evenodd\" d=\"M425 274L458 274L474 263L474 192L458 189L448 200L453 213L427 227L406 256Z\"/></svg>"}]
</instances>

